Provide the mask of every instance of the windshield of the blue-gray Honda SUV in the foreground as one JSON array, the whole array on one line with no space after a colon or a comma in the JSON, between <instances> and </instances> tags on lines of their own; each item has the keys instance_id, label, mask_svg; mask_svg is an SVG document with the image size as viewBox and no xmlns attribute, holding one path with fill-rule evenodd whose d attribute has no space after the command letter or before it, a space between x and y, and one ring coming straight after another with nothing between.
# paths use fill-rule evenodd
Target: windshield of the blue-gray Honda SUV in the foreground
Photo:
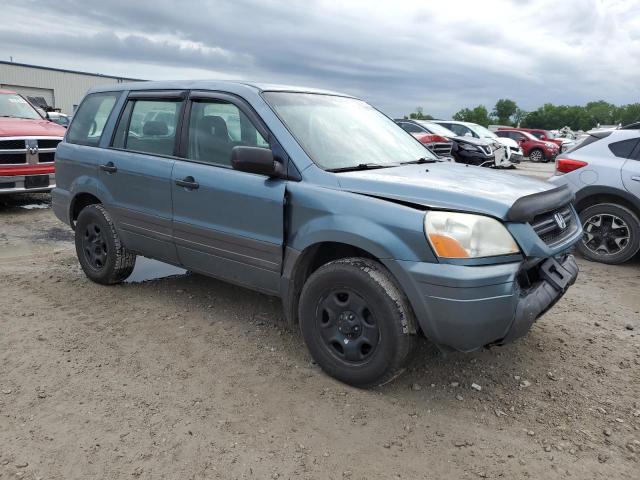
<instances>
[{"instance_id":1,"label":"windshield of the blue-gray Honda SUV in the foreground","mask_svg":"<svg viewBox=\"0 0 640 480\"><path fill-rule=\"evenodd\" d=\"M291 92L265 92L264 98L311 160L325 170L392 167L437 158L361 100Z\"/></svg>"}]
</instances>

